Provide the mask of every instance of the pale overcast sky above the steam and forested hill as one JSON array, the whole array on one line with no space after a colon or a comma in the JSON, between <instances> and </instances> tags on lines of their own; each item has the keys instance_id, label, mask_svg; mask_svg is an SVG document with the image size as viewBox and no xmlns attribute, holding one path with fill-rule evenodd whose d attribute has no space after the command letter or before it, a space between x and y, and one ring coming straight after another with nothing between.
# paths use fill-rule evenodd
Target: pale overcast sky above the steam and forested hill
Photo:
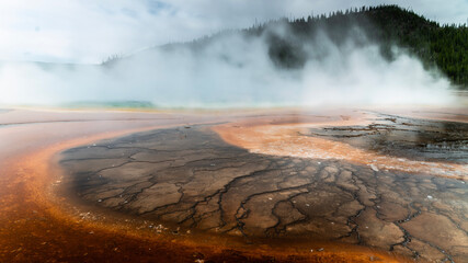
<instances>
[{"instance_id":1,"label":"pale overcast sky above the steam and forested hill","mask_svg":"<svg viewBox=\"0 0 468 263\"><path fill-rule=\"evenodd\" d=\"M397 3L466 23L468 0L14 0L0 2L0 60L96 64L281 16Z\"/></svg>"}]
</instances>

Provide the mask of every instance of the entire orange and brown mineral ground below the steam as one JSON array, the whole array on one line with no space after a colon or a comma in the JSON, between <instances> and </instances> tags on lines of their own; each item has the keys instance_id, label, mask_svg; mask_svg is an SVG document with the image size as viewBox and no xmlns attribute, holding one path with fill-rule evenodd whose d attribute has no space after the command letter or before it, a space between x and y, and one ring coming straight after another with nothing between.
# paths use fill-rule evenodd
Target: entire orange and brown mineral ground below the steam
<instances>
[{"instance_id":1,"label":"entire orange and brown mineral ground below the steam","mask_svg":"<svg viewBox=\"0 0 468 263\"><path fill-rule=\"evenodd\" d=\"M1 111L0 262L467 262L466 123Z\"/></svg>"}]
</instances>

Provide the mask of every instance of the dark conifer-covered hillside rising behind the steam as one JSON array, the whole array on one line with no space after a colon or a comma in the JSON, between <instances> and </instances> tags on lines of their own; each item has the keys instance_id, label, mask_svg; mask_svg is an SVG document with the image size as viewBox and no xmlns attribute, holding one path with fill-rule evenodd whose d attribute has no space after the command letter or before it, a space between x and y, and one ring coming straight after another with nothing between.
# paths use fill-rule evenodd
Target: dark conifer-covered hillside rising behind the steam
<instances>
[{"instance_id":1,"label":"dark conifer-covered hillside rising behind the steam","mask_svg":"<svg viewBox=\"0 0 468 263\"><path fill-rule=\"evenodd\" d=\"M292 34L282 35L272 31L285 24ZM294 21L282 19L242 31L220 32L192 43L170 44L158 48L170 50L189 46L194 52L199 52L224 35L239 33L246 37L266 35L271 60L285 69L298 69L308 59L320 59L308 57L306 50L307 43L316 41L319 33L327 34L338 47L344 47L350 39L354 41L354 45L378 44L381 55L388 60L393 59L392 46L398 46L419 57L425 68L438 68L454 84L468 90L467 25L441 26L398 5L363 7ZM365 37L356 37L358 34L364 34ZM119 58L111 58L104 64L111 65L116 60Z\"/></svg>"}]
</instances>

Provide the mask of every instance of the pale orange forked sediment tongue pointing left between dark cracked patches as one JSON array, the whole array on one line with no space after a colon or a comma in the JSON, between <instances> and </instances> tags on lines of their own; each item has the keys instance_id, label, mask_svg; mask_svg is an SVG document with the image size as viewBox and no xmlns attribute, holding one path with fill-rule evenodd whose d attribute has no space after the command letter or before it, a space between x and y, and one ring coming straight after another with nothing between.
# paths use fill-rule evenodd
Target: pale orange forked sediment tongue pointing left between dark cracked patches
<instances>
[{"instance_id":1,"label":"pale orange forked sediment tongue pointing left between dark cracked patches","mask_svg":"<svg viewBox=\"0 0 468 263\"><path fill-rule=\"evenodd\" d=\"M341 121L324 123L274 123L272 119L242 121L218 125L213 129L225 141L254 153L336 159L369 165L376 171L398 170L459 180L468 179L468 164L411 160L404 157L380 155L376 151L359 149L350 144L320 136L304 136L309 134L309 129L312 128L368 125L369 123L369 115L365 115L365 118L346 117Z\"/></svg>"}]
</instances>

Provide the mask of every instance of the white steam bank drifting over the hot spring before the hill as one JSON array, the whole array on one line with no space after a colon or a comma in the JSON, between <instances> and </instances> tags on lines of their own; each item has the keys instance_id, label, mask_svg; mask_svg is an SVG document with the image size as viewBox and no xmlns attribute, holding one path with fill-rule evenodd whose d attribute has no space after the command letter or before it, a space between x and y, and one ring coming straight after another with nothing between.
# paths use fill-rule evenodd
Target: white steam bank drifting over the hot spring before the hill
<instances>
[{"instance_id":1,"label":"white steam bank drifting over the hot spring before the hill","mask_svg":"<svg viewBox=\"0 0 468 263\"><path fill-rule=\"evenodd\" d=\"M391 59L358 28L341 44L319 31L301 48L300 67L271 56L272 35L219 34L198 45L151 48L106 65L0 65L0 105L148 101L157 107L443 105L450 83L393 46ZM194 48L194 46L198 46Z\"/></svg>"}]
</instances>

